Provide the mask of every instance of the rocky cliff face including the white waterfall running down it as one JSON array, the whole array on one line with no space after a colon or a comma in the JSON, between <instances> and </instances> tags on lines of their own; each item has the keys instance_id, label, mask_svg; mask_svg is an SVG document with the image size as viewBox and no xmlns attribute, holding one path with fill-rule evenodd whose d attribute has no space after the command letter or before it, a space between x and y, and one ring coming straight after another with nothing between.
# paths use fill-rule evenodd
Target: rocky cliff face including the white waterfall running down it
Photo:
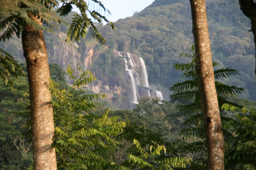
<instances>
[{"instance_id":1,"label":"rocky cliff face including the white waterfall running down it","mask_svg":"<svg viewBox=\"0 0 256 170\"><path fill-rule=\"evenodd\" d=\"M20 39L14 39L15 43L9 43L19 44ZM135 108L142 96L168 100L169 94L163 97L158 87L149 85L143 58L127 51L109 49L108 46L99 47L95 41L88 47L76 42L66 43L65 39L66 34L62 32L45 34L49 63L56 63L64 70L70 65L77 73L78 67L82 71L91 70L97 80L85 88L94 93L106 94L106 100L116 107ZM14 57L25 62L22 46L17 45L16 50L18 52Z\"/></svg>"}]
</instances>

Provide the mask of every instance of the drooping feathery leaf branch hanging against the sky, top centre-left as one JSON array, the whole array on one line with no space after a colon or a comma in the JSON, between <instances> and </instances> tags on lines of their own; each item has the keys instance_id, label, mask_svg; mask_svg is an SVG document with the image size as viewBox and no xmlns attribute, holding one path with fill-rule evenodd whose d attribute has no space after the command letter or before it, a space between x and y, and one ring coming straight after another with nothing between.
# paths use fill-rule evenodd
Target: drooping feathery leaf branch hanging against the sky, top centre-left
<instances>
[{"instance_id":1,"label":"drooping feathery leaf branch hanging against the sky, top centre-left","mask_svg":"<svg viewBox=\"0 0 256 170\"><path fill-rule=\"evenodd\" d=\"M73 15L72 22L67 33L66 42L80 42L80 37L85 38L86 34L88 33L87 28L89 28L89 31L92 33L92 37L96 38L98 42L104 44L106 41L96 28L96 25L93 23L92 19L97 21L99 24L103 24L104 21L109 24L113 30L116 30L114 24L108 21L108 19L101 14L101 12L104 12L108 15L110 14L110 12L104 7L104 5L100 1L63 1L62 6L57 10L57 12L60 13L60 16L68 15L68 13L70 13L72 10L72 5L75 5L79 9L80 14ZM97 11L92 10L92 6L93 9L95 9L96 6ZM90 19L87 14L90 14L92 19Z\"/></svg>"}]
</instances>

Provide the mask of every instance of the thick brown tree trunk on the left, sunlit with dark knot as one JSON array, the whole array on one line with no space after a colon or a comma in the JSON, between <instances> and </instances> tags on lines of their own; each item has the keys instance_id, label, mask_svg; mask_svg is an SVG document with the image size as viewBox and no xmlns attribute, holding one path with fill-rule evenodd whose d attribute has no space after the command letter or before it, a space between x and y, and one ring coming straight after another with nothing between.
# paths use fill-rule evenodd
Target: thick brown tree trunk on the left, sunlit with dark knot
<instances>
[{"instance_id":1,"label":"thick brown tree trunk on the left, sunlit with dark knot","mask_svg":"<svg viewBox=\"0 0 256 170\"><path fill-rule=\"evenodd\" d=\"M41 18L29 14L42 25ZM27 62L34 170L57 170L52 100L48 89L50 73L42 31L25 25L22 45Z\"/></svg>"}]
</instances>

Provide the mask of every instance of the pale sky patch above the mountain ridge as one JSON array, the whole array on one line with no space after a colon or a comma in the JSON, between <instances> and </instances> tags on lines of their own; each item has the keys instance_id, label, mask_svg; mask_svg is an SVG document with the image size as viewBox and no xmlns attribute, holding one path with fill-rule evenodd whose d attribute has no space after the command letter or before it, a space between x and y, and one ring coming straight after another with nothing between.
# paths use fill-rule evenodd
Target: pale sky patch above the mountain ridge
<instances>
[{"instance_id":1,"label":"pale sky patch above the mountain ridge","mask_svg":"<svg viewBox=\"0 0 256 170\"><path fill-rule=\"evenodd\" d=\"M118 19L130 17L134 12L140 12L154 0L100 0L111 15L107 17L109 21L115 22ZM76 11L76 9L73 9Z\"/></svg>"}]
</instances>

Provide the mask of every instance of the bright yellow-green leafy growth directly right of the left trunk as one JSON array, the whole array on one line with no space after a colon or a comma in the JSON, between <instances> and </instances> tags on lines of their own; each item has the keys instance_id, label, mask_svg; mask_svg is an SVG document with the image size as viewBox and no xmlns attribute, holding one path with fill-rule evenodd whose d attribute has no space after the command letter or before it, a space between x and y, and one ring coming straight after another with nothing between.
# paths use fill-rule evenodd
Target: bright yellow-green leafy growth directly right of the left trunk
<instances>
[{"instance_id":1,"label":"bright yellow-green leafy growth directly right of the left trunk","mask_svg":"<svg viewBox=\"0 0 256 170\"><path fill-rule=\"evenodd\" d=\"M73 75L68 67L66 73L74 81L71 89L61 89L51 82L55 122L55 148L58 169L104 169L118 141L115 136L123 131L125 123L119 117L108 117L110 110L102 116L90 116L88 111L95 108L93 102L105 95L86 94L82 91L74 95L77 88L95 80L87 71Z\"/></svg>"}]
</instances>

